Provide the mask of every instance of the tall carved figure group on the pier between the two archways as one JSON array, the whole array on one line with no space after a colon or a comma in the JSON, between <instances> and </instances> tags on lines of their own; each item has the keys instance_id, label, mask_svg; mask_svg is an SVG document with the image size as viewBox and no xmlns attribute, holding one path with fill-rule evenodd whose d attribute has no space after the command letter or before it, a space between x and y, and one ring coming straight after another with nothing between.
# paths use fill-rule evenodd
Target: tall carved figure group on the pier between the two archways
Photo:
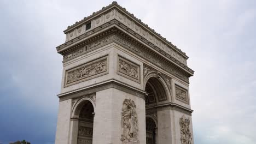
<instances>
[{"instance_id":1,"label":"tall carved figure group on the pier between the two archways","mask_svg":"<svg viewBox=\"0 0 256 144\"><path fill-rule=\"evenodd\" d=\"M121 141L123 143L139 143L137 139L138 126L137 126L137 113L136 104L131 99L125 99L122 107L122 133Z\"/></svg>"}]
</instances>

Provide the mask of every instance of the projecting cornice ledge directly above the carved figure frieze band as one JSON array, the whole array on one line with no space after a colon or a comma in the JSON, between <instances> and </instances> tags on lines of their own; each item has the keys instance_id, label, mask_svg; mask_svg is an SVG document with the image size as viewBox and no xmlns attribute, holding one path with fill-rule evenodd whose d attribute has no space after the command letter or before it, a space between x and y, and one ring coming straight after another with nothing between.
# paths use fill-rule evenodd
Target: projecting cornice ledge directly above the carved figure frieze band
<instances>
[{"instance_id":1,"label":"projecting cornice ledge directly above the carved figure frieze band","mask_svg":"<svg viewBox=\"0 0 256 144\"><path fill-rule=\"evenodd\" d=\"M194 74L194 71L191 70L187 65L184 65L183 63L177 61L176 58L173 58L172 56L167 55L167 53L165 51L162 51L161 49L156 47L154 44L150 43L147 39L139 37L139 35L134 33L132 31L132 29L127 28L125 25L120 25L120 23L118 24L117 21L115 21L115 20L110 21L108 23L108 25L106 25L102 28L96 29L94 33L89 33L88 35L80 35L79 38L74 39L67 45L61 45L61 46L57 47L57 51L59 53L61 53L62 55L66 55L68 52L77 50L86 44L93 43L93 41L96 41L103 37L107 37L107 35L111 35L111 34L123 35L123 37L125 37L126 39L128 39L129 41L131 41L133 43L136 43L137 45L141 46L142 48L148 47L147 50L152 51L154 53L154 55L156 55L157 57L162 59L162 61L172 62L174 65L176 65L177 68L181 68L181 69L184 69L185 71L187 71L187 73L189 73L189 76L193 76L193 74ZM141 41L141 42L139 42L139 41ZM114 40L110 41L110 42L117 43L117 41L114 41ZM108 44L108 43L106 43L106 44ZM95 49L91 49L91 50L95 50ZM63 59L63 62L66 62L66 61L67 61L66 59Z\"/></svg>"}]
</instances>

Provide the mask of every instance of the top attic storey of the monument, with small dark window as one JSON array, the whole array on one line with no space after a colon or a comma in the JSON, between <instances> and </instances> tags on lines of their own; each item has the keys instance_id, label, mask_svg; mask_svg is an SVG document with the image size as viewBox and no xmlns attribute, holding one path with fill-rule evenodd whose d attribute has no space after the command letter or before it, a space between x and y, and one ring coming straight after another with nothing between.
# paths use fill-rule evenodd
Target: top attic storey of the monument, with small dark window
<instances>
[{"instance_id":1,"label":"top attic storey of the monument, with small dark window","mask_svg":"<svg viewBox=\"0 0 256 144\"><path fill-rule=\"evenodd\" d=\"M63 47L83 37L83 35L94 33L98 28L108 25L113 20L116 20L119 25L124 25L124 27L131 30L135 35L141 37L141 39L147 40L147 43L152 45L152 49L162 51L165 55L172 57L174 61L187 65L188 56L184 52L174 46L170 41L161 37L154 29L149 28L148 25L137 19L133 14L130 14L125 8L118 5L117 2L113 2L106 8L103 7L100 11L69 26L64 31L66 34L66 43L58 46L57 51L59 52Z\"/></svg>"}]
</instances>

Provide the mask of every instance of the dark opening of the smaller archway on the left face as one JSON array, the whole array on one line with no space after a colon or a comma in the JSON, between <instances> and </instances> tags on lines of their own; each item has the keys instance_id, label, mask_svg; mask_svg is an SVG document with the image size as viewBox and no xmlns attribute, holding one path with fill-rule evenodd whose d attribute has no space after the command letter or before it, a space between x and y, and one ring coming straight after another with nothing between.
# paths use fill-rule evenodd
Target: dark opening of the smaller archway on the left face
<instances>
[{"instance_id":1,"label":"dark opening of the smaller archway on the left face","mask_svg":"<svg viewBox=\"0 0 256 144\"><path fill-rule=\"evenodd\" d=\"M89 100L85 100L80 104L80 112L78 118L78 136L77 143L92 144L92 134L94 128L94 106Z\"/></svg>"}]
</instances>

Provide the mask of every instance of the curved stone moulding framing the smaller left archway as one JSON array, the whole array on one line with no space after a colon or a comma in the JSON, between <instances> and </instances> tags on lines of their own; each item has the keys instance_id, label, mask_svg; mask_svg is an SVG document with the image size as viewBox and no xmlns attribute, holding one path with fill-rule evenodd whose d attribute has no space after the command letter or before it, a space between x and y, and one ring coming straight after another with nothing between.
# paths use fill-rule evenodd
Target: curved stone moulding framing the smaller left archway
<instances>
[{"instance_id":1,"label":"curved stone moulding framing the smaller left archway","mask_svg":"<svg viewBox=\"0 0 256 144\"><path fill-rule=\"evenodd\" d=\"M82 110L82 107L84 106L85 103L91 103L92 106L94 107L94 112L95 112L95 101L89 97L84 97L79 99L77 103L75 103L71 117L78 118L79 113Z\"/></svg>"}]
</instances>

